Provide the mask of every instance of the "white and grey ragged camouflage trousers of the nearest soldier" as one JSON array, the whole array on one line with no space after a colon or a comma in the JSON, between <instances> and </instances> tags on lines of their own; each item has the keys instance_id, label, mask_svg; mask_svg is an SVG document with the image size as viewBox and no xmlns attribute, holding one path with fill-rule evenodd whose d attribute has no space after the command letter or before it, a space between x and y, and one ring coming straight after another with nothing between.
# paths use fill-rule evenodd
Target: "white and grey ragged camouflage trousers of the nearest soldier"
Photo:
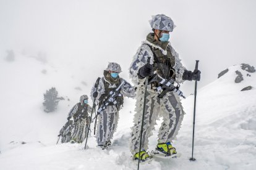
<instances>
[{"instance_id":1,"label":"white and grey ragged camouflage trousers of the nearest soldier","mask_svg":"<svg viewBox=\"0 0 256 170\"><path fill-rule=\"evenodd\" d=\"M144 94L144 89L137 89L134 127L132 127L130 137L130 151L132 154L139 152ZM152 136L152 131L155 130L156 119L163 116L163 122L158 131L158 143L166 143L173 142L176 139L184 115L185 112L177 94L168 92L163 99L160 99L158 93L148 91L143 122L142 150L148 149L148 138Z\"/></svg>"}]
</instances>

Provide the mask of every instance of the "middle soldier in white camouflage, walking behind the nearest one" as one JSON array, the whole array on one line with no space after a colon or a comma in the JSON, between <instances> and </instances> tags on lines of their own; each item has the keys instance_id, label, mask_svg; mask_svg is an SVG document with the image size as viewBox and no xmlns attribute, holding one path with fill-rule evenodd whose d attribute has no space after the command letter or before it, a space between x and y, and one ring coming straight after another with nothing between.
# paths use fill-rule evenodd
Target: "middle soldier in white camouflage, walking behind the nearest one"
<instances>
[{"instance_id":1,"label":"middle soldier in white camouflage, walking behind the nearest one","mask_svg":"<svg viewBox=\"0 0 256 170\"><path fill-rule=\"evenodd\" d=\"M119 119L119 110L121 110L124 103L124 96L135 97L134 86L127 83L125 79L119 77L121 73L121 67L118 63L110 62L106 70L104 70L103 77L100 78L98 89L92 88L91 97L92 100L96 99L98 107L100 108L105 104L111 91L115 91L120 84L125 85L119 89L116 102L111 102L101 113L98 115L98 127L96 131L96 140L98 146L102 149L106 149L111 146L111 139L116 131L117 122Z\"/></svg>"}]
</instances>

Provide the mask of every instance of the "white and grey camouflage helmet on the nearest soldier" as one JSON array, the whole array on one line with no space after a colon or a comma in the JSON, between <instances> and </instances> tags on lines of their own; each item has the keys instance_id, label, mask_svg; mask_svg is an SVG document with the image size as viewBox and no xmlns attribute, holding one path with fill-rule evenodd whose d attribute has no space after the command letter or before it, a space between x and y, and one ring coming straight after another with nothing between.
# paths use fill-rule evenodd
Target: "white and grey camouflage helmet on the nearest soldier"
<instances>
[{"instance_id":1,"label":"white and grey camouflage helmet on the nearest soldier","mask_svg":"<svg viewBox=\"0 0 256 170\"><path fill-rule=\"evenodd\" d=\"M152 19L149 22L151 28L156 30L173 32L173 28L175 27L173 20L164 14L152 15Z\"/></svg>"}]
</instances>

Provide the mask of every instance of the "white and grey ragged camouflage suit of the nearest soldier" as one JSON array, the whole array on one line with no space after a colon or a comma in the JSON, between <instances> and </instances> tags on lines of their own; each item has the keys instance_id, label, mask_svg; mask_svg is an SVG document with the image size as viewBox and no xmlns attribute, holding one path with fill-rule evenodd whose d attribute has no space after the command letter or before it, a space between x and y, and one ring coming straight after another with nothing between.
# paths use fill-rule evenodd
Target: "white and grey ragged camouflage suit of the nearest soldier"
<instances>
[{"instance_id":1,"label":"white and grey ragged camouflage suit of the nearest soldier","mask_svg":"<svg viewBox=\"0 0 256 170\"><path fill-rule=\"evenodd\" d=\"M150 41L143 41L142 45L139 47L137 53L134 55L134 59L130 65L130 78L132 82L137 84L137 97L136 97L136 107L134 116L134 126L132 127L131 138L130 138L130 151L134 155L139 152L140 145L140 129L142 121L143 112L143 101L145 93L145 78L139 79L138 71L139 69L147 63L147 57L150 57L150 64L153 64L153 52L151 51L149 44L152 47L160 49L160 51L166 55L167 51L161 49ZM171 44L168 44L171 54L175 57L174 70L176 71L176 81L182 83L182 74L184 73L184 68L179 59L179 55L174 51ZM168 50L168 48L167 48ZM152 130L155 129L156 119L158 116L163 116L163 123L161 123L160 130L158 132L158 143L172 142L176 137L177 132L181 126L181 122L184 116L184 111L182 110L182 105L177 94L173 92L168 92L162 99L158 97L160 92L155 92L148 85L147 91L147 103L145 108L145 117L143 122L143 132L142 132L142 150L148 149L148 137L152 135Z\"/></svg>"}]
</instances>

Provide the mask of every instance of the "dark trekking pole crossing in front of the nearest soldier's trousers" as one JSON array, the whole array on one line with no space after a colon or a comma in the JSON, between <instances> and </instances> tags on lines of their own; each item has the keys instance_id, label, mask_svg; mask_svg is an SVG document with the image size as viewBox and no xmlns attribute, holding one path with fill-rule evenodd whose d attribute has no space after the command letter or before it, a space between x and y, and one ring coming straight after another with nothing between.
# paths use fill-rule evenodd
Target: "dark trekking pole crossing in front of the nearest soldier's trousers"
<instances>
[{"instance_id":1,"label":"dark trekking pole crossing in front of the nearest soldier's trousers","mask_svg":"<svg viewBox=\"0 0 256 170\"><path fill-rule=\"evenodd\" d=\"M147 59L147 64L150 64L150 57L148 57ZM145 94L144 94L143 113L142 113L142 121L141 121L142 126L140 128L140 149L139 149L139 159L138 159L138 170L140 168L140 150L142 149L142 131L143 131L145 108L146 108L147 91L148 91L148 76L146 77L146 81L145 81Z\"/></svg>"}]
</instances>

